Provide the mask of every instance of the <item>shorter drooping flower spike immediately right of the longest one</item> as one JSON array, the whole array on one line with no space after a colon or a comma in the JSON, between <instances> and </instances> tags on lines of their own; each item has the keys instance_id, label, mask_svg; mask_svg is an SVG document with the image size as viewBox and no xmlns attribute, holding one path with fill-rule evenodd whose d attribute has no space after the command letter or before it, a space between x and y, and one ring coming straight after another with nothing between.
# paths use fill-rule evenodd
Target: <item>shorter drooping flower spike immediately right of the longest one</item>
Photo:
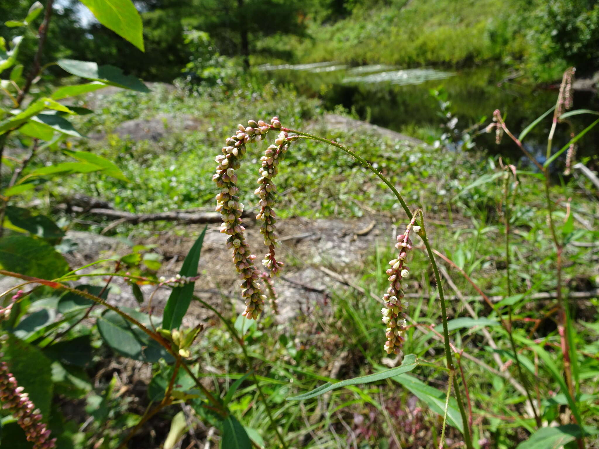
<instances>
[{"instance_id":1,"label":"shorter drooping flower spike immediately right of the longest one","mask_svg":"<svg viewBox=\"0 0 599 449\"><path fill-rule=\"evenodd\" d=\"M273 117L271 123L279 122L278 117ZM280 122L279 122L280 123ZM274 255L274 248L277 241L276 225L277 214L274 213L273 205L276 199L277 186L273 183L273 178L279 172L279 162L285 157L285 153L289 149L288 134L280 132L279 137L274 141L274 145L270 145L261 157L262 166L260 168L260 177L258 184L260 187L255 190L255 194L260 197L260 212L256 215L256 220L262 220L260 232L264 235L264 244L268 246L269 252L265 254L262 260L262 265L267 268L271 274L280 274L283 268L282 262L277 262Z\"/></svg>"}]
</instances>

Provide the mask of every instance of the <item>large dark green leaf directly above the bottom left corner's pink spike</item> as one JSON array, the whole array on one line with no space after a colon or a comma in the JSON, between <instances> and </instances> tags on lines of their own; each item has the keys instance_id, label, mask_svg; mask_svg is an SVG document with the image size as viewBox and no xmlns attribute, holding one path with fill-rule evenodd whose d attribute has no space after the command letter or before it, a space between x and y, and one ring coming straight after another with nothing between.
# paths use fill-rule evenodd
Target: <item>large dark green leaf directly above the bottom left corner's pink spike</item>
<instances>
[{"instance_id":1,"label":"large dark green leaf directly above the bottom left corner's pink spike","mask_svg":"<svg viewBox=\"0 0 599 449\"><path fill-rule=\"evenodd\" d=\"M2 360L17 380L19 386L29 393L29 398L39 408L44 420L49 418L52 401L52 374L50 360L35 346L10 335L2 351Z\"/></svg>"}]
</instances>

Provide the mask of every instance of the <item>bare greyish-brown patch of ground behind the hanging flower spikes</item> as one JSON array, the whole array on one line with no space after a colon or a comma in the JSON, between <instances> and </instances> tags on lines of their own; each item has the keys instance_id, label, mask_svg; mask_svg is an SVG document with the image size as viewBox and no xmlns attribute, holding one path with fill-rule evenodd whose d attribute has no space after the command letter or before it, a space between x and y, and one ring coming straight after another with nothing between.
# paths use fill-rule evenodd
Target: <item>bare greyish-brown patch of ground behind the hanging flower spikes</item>
<instances>
[{"instance_id":1,"label":"bare greyish-brown patch of ground behind the hanging flower spikes","mask_svg":"<svg viewBox=\"0 0 599 449\"><path fill-rule=\"evenodd\" d=\"M267 248L262 244L262 236L255 220L246 220L246 236L250 248L258 256L258 262ZM231 310L231 304L238 313L243 311L238 277L231 261L231 251L226 248L225 234L220 226L208 227L202 245L199 273L202 278L196 282L195 294L213 305L219 311ZM171 277L179 272L183 260L201 232L202 225L187 225L173 229L143 241L156 244L156 251L164 257L159 275ZM190 236L180 236L181 231ZM339 288L340 284L319 270L320 266L343 274L355 272L364 265L365 257L374 251L375 241L390 244L395 229L389 219L363 217L361 219L318 219L292 218L279 222L279 258L286 263L282 277L274 279L279 295L280 315L277 321L287 323L298 314L310 314L319 305L328 306L328 293ZM129 247L117 238L96 235L88 232L68 232L67 238L76 248L66 257L71 266L83 266L97 259L122 256ZM91 269L89 269L90 271ZM89 278L81 281L89 282ZM147 300L155 290L154 286L141 286ZM159 289L152 298L153 314L160 315L164 310L171 290ZM111 283L108 302L118 307L138 307L131 286L122 278L114 278ZM198 302L192 302L183 323L195 326L210 318L212 313Z\"/></svg>"}]
</instances>

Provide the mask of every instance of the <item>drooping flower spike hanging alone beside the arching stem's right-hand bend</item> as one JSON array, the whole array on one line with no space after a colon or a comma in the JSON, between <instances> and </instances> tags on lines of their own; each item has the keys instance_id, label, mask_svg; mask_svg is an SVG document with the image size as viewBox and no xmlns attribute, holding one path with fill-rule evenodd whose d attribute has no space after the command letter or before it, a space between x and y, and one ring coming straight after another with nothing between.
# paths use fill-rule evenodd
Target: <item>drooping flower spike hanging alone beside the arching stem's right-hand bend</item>
<instances>
[{"instance_id":1,"label":"drooping flower spike hanging alone beside the arching stem's right-hand bend","mask_svg":"<svg viewBox=\"0 0 599 449\"><path fill-rule=\"evenodd\" d=\"M399 354L404 342L403 333L406 327L406 314L404 313L404 310L407 307L407 302L402 301L404 292L401 287L401 280L410 275L405 263L407 251L412 249L410 232L420 232L420 226L414 225L415 217L410 224L406 226L406 232L397 236L395 248L400 250L400 254L397 259L393 259L389 262L391 268L387 270L391 286L389 286L387 293L383 295L385 308L381 310L383 314L383 323L388 326L385 333L387 341L383 347L387 354Z\"/></svg>"}]
</instances>

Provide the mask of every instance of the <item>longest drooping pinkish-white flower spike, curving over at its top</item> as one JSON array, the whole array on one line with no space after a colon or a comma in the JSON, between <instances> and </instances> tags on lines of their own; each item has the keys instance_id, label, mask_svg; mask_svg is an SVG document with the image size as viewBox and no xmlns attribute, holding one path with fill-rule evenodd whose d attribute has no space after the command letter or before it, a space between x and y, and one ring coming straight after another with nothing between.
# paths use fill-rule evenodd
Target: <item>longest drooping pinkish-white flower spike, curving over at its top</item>
<instances>
[{"instance_id":1,"label":"longest drooping pinkish-white flower spike, curving over at its top","mask_svg":"<svg viewBox=\"0 0 599 449\"><path fill-rule=\"evenodd\" d=\"M226 146L222 148L223 154L216 156L218 166L212 180L220 189L220 193L216 195L216 211L223 217L220 232L229 235L227 247L232 249L233 262L241 279L241 295L246 301L243 315L255 319L264 309L266 296L262 293L258 282L258 269L253 262L256 256L250 254L250 247L243 235L245 230L241 221L243 204L239 202L235 170L241 166L240 160L246 154L246 144L261 141L262 136L270 129L279 129L281 122L273 117L271 125L267 125L262 120L258 122L249 120L247 125L238 125L237 133L226 139Z\"/></svg>"}]
</instances>

